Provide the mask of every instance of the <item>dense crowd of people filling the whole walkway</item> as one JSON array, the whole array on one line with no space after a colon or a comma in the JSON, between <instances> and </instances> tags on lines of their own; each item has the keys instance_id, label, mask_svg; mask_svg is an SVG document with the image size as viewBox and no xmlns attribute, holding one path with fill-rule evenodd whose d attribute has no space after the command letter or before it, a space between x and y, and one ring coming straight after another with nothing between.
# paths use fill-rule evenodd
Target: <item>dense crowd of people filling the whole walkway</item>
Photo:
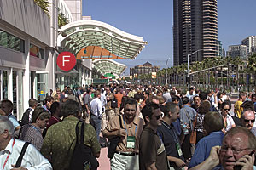
<instances>
[{"instance_id":1,"label":"dense crowd of people filling the whole walkway","mask_svg":"<svg viewBox=\"0 0 256 170\"><path fill-rule=\"evenodd\" d=\"M17 121L13 103L1 101L0 168L73 169L85 122L90 155L100 157L108 140L112 170L256 169L256 94L240 92L233 106L217 90L111 84L56 88L44 105L28 103Z\"/></svg>"}]
</instances>

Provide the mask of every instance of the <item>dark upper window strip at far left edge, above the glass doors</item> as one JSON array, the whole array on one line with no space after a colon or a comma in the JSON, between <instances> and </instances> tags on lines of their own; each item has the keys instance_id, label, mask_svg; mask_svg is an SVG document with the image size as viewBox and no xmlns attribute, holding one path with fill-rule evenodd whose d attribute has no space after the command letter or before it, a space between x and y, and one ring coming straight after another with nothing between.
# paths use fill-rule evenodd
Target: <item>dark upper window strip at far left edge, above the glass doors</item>
<instances>
[{"instance_id":1,"label":"dark upper window strip at far left edge, above the glass doors","mask_svg":"<svg viewBox=\"0 0 256 170\"><path fill-rule=\"evenodd\" d=\"M25 41L0 30L0 46L25 53Z\"/></svg>"}]
</instances>

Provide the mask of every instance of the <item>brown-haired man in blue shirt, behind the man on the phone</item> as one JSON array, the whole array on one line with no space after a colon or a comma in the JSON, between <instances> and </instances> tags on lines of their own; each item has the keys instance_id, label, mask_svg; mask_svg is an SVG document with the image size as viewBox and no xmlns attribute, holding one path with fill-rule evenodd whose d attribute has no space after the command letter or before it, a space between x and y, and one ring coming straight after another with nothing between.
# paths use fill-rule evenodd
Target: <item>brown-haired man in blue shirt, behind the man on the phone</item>
<instances>
[{"instance_id":1,"label":"brown-haired man in blue shirt, behind the man on the phone","mask_svg":"<svg viewBox=\"0 0 256 170\"><path fill-rule=\"evenodd\" d=\"M221 145L224 138L224 133L221 131L224 127L224 121L218 112L207 112L204 117L203 126L207 136L196 144L195 153L189 163L189 168L195 167L205 161L210 155L212 147Z\"/></svg>"}]
</instances>

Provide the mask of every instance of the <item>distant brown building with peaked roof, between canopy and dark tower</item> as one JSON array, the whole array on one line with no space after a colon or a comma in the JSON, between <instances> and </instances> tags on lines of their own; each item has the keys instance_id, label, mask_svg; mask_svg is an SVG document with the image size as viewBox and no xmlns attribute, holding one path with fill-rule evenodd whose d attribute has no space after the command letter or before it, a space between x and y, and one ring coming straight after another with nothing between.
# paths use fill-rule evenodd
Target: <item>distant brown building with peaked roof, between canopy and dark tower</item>
<instances>
[{"instance_id":1,"label":"distant brown building with peaked roof, between canopy and dark tower","mask_svg":"<svg viewBox=\"0 0 256 170\"><path fill-rule=\"evenodd\" d=\"M140 75L152 75L160 70L160 66L154 66L149 62L144 63L143 65L136 65L133 68L130 68L130 76L137 78Z\"/></svg>"}]
</instances>

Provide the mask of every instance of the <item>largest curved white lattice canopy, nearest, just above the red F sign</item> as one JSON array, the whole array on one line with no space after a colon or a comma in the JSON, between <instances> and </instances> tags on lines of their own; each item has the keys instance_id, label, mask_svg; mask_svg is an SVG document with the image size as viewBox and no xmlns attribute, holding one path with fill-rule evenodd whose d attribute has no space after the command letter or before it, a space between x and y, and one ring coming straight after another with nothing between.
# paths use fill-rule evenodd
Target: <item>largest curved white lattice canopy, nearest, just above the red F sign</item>
<instances>
[{"instance_id":1,"label":"largest curved white lattice canopy, nearest, just above the red F sign","mask_svg":"<svg viewBox=\"0 0 256 170\"><path fill-rule=\"evenodd\" d=\"M101 21L79 20L61 27L57 43L77 59L135 59L148 42ZM93 52L84 54L87 51L84 48L89 46L108 50L109 53L104 53L108 56L101 53L94 56Z\"/></svg>"}]
</instances>

